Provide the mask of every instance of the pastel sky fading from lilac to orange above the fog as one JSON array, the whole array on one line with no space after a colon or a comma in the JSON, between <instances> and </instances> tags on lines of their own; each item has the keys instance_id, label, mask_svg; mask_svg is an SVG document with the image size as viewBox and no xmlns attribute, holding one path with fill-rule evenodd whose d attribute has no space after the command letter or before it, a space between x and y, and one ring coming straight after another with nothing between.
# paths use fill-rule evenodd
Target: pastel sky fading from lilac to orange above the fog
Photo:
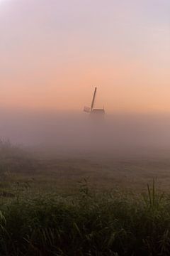
<instances>
[{"instance_id":1,"label":"pastel sky fading from lilac to orange above the fog","mask_svg":"<svg viewBox=\"0 0 170 256\"><path fill-rule=\"evenodd\" d=\"M0 107L170 112L169 0L0 0Z\"/></svg>"}]
</instances>

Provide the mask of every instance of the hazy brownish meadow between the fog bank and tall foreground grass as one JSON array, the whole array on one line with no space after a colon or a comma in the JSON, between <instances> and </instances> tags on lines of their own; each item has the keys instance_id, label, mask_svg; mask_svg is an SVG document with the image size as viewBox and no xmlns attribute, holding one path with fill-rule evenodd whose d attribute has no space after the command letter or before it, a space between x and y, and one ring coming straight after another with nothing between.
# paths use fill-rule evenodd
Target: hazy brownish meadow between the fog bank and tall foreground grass
<instances>
[{"instance_id":1,"label":"hazy brownish meadow between the fog bank and tall foreground grass","mask_svg":"<svg viewBox=\"0 0 170 256\"><path fill-rule=\"evenodd\" d=\"M7 146L8 147L8 146ZM169 192L169 151L147 152L136 156L43 155L11 148L1 154L1 180L27 183L31 188L50 188L56 191L77 191L84 178L96 191L141 192L154 179L157 188Z\"/></svg>"}]
</instances>

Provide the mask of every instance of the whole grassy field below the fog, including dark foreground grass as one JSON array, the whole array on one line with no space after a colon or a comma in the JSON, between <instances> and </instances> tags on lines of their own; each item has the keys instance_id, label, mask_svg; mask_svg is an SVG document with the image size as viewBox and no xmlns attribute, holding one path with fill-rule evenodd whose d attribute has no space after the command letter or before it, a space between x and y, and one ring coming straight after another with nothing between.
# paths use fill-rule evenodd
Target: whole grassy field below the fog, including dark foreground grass
<instances>
[{"instance_id":1,"label":"whole grassy field below the fog, including dark foreground grass","mask_svg":"<svg viewBox=\"0 0 170 256\"><path fill-rule=\"evenodd\" d=\"M1 142L0 255L169 255L169 152L132 155Z\"/></svg>"}]
</instances>

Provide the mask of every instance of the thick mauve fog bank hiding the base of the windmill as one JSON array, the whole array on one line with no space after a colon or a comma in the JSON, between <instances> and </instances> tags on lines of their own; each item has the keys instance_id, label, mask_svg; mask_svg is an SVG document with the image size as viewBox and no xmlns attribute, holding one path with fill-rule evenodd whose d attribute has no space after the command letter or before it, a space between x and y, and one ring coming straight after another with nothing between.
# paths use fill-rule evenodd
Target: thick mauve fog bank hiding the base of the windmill
<instances>
[{"instance_id":1,"label":"thick mauve fog bank hiding the base of the windmill","mask_svg":"<svg viewBox=\"0 0 170 256\"><path fill-rule=\"evenodd\" d=\"M106 114L1 110L2 139L58 153L170 149L169 114Z\"/></svg>"}]
</instances>

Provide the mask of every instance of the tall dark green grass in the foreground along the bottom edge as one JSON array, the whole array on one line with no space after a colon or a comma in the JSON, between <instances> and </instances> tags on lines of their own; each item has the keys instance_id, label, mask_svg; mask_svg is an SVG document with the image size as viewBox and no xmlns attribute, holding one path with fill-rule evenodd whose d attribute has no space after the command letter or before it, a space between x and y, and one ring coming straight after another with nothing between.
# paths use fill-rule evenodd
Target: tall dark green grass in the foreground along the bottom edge
<instances>
[{"instance_id":1,"label":"tall dark green grass in the foreground along the bottom edge","mask_svg":"<svg viewBox=\"0 0 170 256\"><path fill-rule=\"evenodd\" d=\"M23 193L1 201L0 255L169 255L169 197Z\"/></svg>"}]
</instances>

